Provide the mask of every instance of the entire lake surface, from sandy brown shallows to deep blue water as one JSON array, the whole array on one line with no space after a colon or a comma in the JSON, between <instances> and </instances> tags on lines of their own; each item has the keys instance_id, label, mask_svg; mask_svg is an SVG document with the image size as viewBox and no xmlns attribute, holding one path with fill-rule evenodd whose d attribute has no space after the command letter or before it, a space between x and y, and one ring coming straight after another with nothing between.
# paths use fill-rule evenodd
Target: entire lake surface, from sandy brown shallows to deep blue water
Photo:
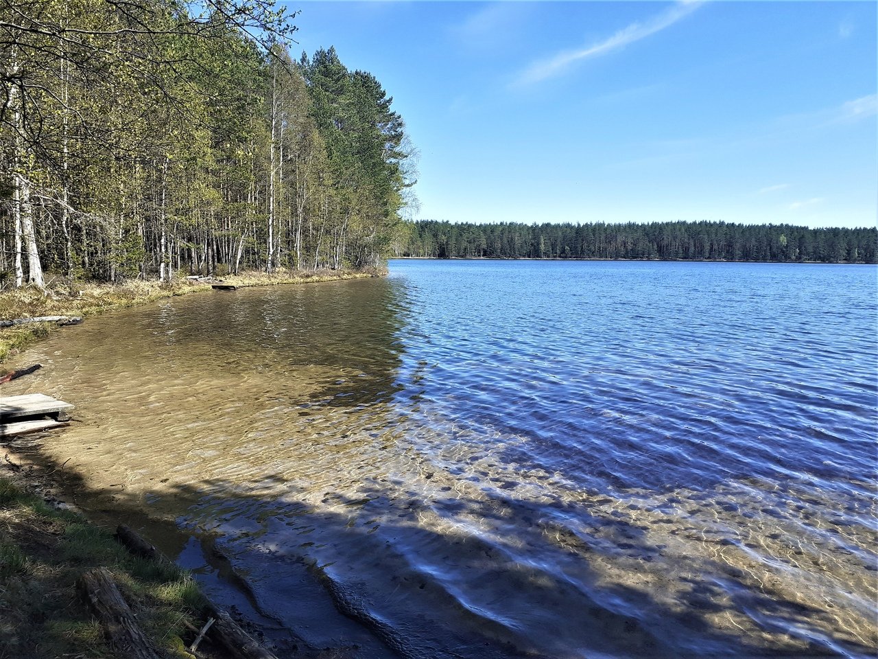
<instances>
[{"instance_id":1,"label":"entire lake surface, from sandy brown shallows to deep blue water","mask_svg":"<svg viewBox=\"0 0 878 659\"><path fill-rule=\"evenodd\" d=\"M4 395L281 655L874 656L874 267L390 270L93 319Z\"/></svg>"}]
</instances>

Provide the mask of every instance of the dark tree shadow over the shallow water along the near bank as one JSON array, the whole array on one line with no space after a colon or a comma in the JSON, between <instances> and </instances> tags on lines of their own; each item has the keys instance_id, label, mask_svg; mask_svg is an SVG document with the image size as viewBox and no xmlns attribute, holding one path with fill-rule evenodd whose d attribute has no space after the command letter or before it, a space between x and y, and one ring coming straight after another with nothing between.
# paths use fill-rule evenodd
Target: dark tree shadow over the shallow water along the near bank
<instances>
[{"instance_id":1,"label":"dark tree shadow over the shallow water along the near bank","mask_svg":"<svg viewBox=\"0 0 878 659\"><path fill-rule=\"evenodd\" d=\"M215 511L216 529L197 530L150 517L140 495L90 489L82 474L54 463L39 447L29 453L47 473L56 474L61 487L84 503L97 523L132 525L143 532L165 554L193 569L221 605L255 619L284 656L316 656L326 645L342 656L415 659L874 655L874 647L850 634L827 635L831 619L823 608L779 597L769 584L754 590L745 576L722 563L712 566L714 580L684 576L689 590L678 602L639 587L636 575L614 583L590 573L591 564L600 561L630 555L649 562L659 554L660 547L646 540L646 528L626 519L593 520L613 527L615 544L587 538L565 543L568 563L592 577L574 581L565 575L564 561L560 569L546 571L537 561L523 560L527 538L486 542L478 533L451 527L439 532L418 524L422 511L438 508L498 526L511 518L533 521L531 532L551 534L551 523L538 518L541 511L514 496L427 501L412 492L412 498L388 502L392 491L373 483L364 484L356 498L327 492L324 504L315 506L295 487L272 499L241 494L239 484L221 481L168 483L146 493L147 499L173 497L181 508ZM376 505L384 513L380 522ZM572 505L553 505L562 516L581 515ZM224 528L229 521L224 511L242 508L258 511L257 523ZM263 541L255 541L260 535ZM413 547L407 539L413 536L424 553L419 557L407 555L407 547ZM248 538L248 547L242 537ZM315 561L308 551L315 543L332 542L337 547L324 547L325 555L335 552L336 560ZM459 588L436 568L431 558L437 556L464 572L469 587ZM486 597L476 601L473 593L483 588ZM567 608L559 606L564 601ZM753 612L770 613L784 625L766 629L774 634L767 642L716 625L723 616ZM519 616L529 618L529 626L543 626L543 638L520 634ZM817 621L824 625L818 628ZM297 622L308 628L297 629ZM321 627L316 637L333 642L315 647L308 638L314 626Z\"/></svg>"}]
</instances>

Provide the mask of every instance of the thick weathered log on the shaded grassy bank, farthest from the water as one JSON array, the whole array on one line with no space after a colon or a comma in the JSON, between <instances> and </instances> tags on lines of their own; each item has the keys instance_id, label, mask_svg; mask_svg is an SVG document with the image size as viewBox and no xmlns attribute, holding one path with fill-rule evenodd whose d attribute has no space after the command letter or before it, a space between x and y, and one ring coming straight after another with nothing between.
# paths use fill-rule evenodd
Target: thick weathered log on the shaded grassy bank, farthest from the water
<instances>
[{"instance_id":1,"label":"thick weathered log on the shaded grassy bank, farthest from the water","mask_svg":"<svg viewBox=\"0 0 878 659\"><path fill-rule=\"evenodd\" d=\"M79 580L80 589L97 616L110 646L119 656L160 659L140 630L131 608L116 587L110 570L93 568Z\"/></svg>"}]
</instances>

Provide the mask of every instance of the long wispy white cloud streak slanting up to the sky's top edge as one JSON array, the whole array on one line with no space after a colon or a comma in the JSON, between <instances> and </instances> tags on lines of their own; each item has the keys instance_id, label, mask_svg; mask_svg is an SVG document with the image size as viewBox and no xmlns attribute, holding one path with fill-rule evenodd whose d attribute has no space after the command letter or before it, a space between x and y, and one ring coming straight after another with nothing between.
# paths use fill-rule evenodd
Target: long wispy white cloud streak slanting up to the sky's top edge
<instances>
[{"instance_id":1,"label":"long wispy white cloud streak slanting up to the sky's top edge","mask_svg":"<svg viewBox=\"0 0 878 659\"><path fill-rule=\"evenodd\" d=\"M644 23L632 23L631 25L628 25L608 39L575 50L562 51L554 57L534 62L527 69L522 71L515 80L515 84L522 85L538 83L546 78L559 76L569 70L576 62L600 57L601 55L626 47L635 41L645 39L651 34L665 30L680 19L686 18L701 5L702 2L681 2L674 4L670 9L653 16Z\"/></svg>"}]
</instances>

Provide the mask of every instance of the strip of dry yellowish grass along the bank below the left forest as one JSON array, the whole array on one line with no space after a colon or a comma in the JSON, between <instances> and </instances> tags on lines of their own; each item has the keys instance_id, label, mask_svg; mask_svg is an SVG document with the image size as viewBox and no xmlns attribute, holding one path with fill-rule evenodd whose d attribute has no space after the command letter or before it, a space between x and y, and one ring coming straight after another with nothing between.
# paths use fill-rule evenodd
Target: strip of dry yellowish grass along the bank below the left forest
<instances>
[{"instance_id":1,"label":"strip of dry yellowish grass along the bank below the left forest","mask_svg":"<svg viewBox=\"0 0 878 659\"><path fill-rule=\"evenodd\" d=\"M384 272L370 270L298 272L278 270L265 272L241 272L222 280L233 286L279 286L306 284L339 279L377 277ZM55 282L45 291L34 286L0 293L0 319L33 318L43 315L100 315L112 309L135 307L162 298L210 291L207 282L175 279L170 284L158 281L132 279L121 284L94 284L85 282ZM21 349L47 337L55 329L53 323L29 323L0 329L0 362Z\"/></svg>"}]
</instances>

